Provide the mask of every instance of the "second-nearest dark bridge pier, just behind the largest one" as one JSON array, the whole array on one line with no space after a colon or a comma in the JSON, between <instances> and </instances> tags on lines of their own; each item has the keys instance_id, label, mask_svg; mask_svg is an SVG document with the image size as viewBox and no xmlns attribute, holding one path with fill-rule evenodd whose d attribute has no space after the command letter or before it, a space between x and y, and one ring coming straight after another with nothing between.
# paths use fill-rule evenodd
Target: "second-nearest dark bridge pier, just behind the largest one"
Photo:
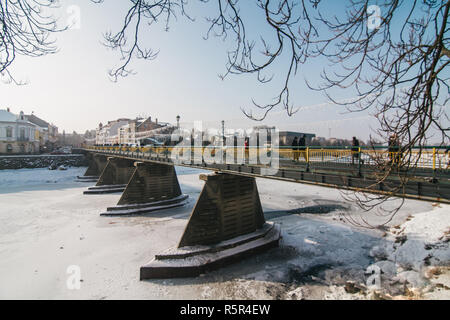
<instances>
[{"instance_id":1,"label":"second-nearest dark bridge pier, just behind the largest one","mask_svg":"<svg viewBox=\"0 0 450 320\"><path fill-rule=\"evenodd\" d=\"M186 203L188 196L181 193L174 166L144 162L134 165L133 175L117 206L101 215L142 214Z\"/></svg>"}]
</instances>

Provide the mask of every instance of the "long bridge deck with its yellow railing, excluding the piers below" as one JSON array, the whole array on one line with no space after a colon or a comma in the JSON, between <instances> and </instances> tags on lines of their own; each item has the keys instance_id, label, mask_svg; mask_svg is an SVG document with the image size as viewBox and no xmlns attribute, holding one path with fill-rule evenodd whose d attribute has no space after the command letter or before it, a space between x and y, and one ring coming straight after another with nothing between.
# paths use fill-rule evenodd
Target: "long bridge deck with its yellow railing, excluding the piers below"
<instances>
[{"instance_id":1,"label":"long bridge deck with its yellow railing, excluding the piers below","mask_svg":"<svg viewBox=\"0 0 450 320\"><path fill-rule=\"evenodd\" d=\"M293 161L292 149L262 148L246 152L243 148L233 148L230 153L228 148L228 154L233 161L222 161L226 158L226 151L219 161L208 161L211 158L206 157L207 148L200 148L201 151L194 149L91 147L85 150L135 161L450 203L448 155L435 150L413 154L409 159L413 164L408 170L396 170L386 166L386 171L383 171L380 163L395 159L397 154L369 150L359 152L359 156L355 158L355 152L351 150L314 149L300 151L299 159ZM214 156L216 150L209 149L208 152L209 156ZM271 152L276 152L276 157L274 154L270 155L271 159L276 161L263 161L262 164L260 157ZM187 153L187 160L179 158L179 155L186 157Z\"/></svg>"}]
</instances>

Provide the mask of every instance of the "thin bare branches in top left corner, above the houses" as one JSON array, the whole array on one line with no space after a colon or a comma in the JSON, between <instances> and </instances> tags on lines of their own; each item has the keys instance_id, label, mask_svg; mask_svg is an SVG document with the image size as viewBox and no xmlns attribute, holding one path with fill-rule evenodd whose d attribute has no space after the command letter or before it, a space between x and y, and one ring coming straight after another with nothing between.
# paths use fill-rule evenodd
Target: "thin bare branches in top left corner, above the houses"
<instances>
[{"instance_id":1,"label":"thin bare branches in top left corner, above the houses","mask_svg":"<svg viewBox=\"0 0 450 320\"><path fill-rule=\"evenodd\" d=\"M0 0L0 75L6 82L17 81L10 67L19 55L39 57L55 53L52 32L62 31L50 9L56 0Z\"/></svg>"}]
</instances>

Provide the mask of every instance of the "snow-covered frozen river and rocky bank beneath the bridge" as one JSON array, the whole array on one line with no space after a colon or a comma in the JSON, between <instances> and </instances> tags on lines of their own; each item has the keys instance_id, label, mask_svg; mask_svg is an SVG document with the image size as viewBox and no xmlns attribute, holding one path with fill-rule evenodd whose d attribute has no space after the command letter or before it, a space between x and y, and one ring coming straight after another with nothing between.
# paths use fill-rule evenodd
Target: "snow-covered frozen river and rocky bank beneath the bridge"
<instances>
[{"instance_id":1,"label":"snow-covered frozen river and rocky bank beneath the bridge","mask_svg":"<svg viewBox=\"0 0 450 320\"><path fill-rule=\"evenodd\" d=\"M449 298L450 206L408 200L389 229L368 230L342 220L362 213L338 190L258 179L279 248L198 278L139 281L139 267L179 241L202 171L177 168L185 207L100 217L120 194L83 195L84 170L0 171L1 299ZM74 265L80 290L66 283Z\"/></svg>"}]
</instances>

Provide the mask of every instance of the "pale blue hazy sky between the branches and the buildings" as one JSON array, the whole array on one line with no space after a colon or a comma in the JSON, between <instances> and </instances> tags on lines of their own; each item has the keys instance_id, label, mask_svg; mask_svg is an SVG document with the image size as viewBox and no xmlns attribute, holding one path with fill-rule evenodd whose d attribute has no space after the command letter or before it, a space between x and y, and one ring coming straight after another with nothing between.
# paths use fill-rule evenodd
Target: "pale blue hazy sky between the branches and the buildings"
<instances>
[{"instance_id":1,"label":"pale blue hazy sky between the branches and the buildings","mask_svg":"<svg viewBox=\"0 0 450 320\"><path fill-rule=\"evenodd\" d=\"M142 34L159 56L153 61L134 61L136 75L113 83L108 70L119 63L117 52L102 46L102 33L117 30L123 21L129 1L108 1L98 5L89 0L61 1L60 23L68 21L67 9L80 9L80 28L57 35L59 52L40 58L18 57L11 71L15 77L27 80L25 86L0 83L0 108L34 113L54 124L60 131L82 133L95 129L100 122L119 117L146 115L160 121L225 120L227 127L250 127L241 107L251 106L251 99L268 102L279 86L275 81L262 86L254 76L231 76L224 81L218 74L225 70L229 43L212 38L204 40L208 10L191 10L196 22L179 17L169 32L157 25ZM332 8L330 8L332 9ZM283 69L281 64L280 70ZM376 120L368 113L349 114L342 107L324 105L325 96L311 92L304 78L317 79L324 66L318 62L301 67L292 82L295 105L306 106L289 118L276 110L264 124L281 130L315 133L318 136L368 139ZM342 97L348 97L345 93ZM317 107L309 107L318 105ZM281 112L278 112L281 111Z\"/></svg>"}]
</instances>

